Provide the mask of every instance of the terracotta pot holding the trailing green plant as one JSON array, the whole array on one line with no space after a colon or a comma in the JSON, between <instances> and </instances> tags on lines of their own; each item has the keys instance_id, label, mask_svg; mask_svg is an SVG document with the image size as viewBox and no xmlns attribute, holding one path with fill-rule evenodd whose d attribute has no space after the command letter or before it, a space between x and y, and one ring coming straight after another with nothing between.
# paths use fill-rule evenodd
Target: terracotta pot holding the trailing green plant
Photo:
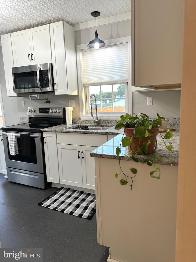
<instances>
[{"instance_id":1,"label":"terracotta pot holding the trailing green plant","mask_svg":"<svg viewBox=\"0 0 196 262\"><path fill-rule=\"evenodd\" d=\"M147 129L148 130L148 132L150 133L150 134L154 134L155 135L155 137L157 136L157 134L159 133L159 130L157 130L156 128L152 128L151 130L149 130L149 129ZM126 135L126 137L129 137L129 138L131 138L132 137L132 135L133 135L133 131L134 131L134 128L128 128L128 127L126 127L125 128L125 135ZM141 139L141 141L139 141L139 139L137 138L137 137L135 137L134 138L134 146L133 145L130 145L128 148L129 148L129 151L132 151L133 153L135 153L135 151L138 151L138 146L141 148L141 146L142 146L142 143L144 143L144 142L148 142L148 140L151 140L152 139L152 141L151 141L151 143L148 145L148 152L146 153L146 154L151 154L152 152L153 152L153 150L154 150L154 148L155 148L155 143L156 143L156 139L155 139L155 137L153 136L153 138L152 138L152 136L151 137L143 137L142 139Z\"/></svg>"}]
</instances>

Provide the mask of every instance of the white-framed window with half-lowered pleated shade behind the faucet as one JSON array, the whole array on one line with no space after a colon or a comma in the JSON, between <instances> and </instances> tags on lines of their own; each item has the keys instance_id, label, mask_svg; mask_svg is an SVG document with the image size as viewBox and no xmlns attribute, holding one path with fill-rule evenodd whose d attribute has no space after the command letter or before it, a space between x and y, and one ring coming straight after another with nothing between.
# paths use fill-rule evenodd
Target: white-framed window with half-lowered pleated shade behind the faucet
<instances>
[{"instance_id":1,"label":"white-framed window with half-lowered pleated shade behind the faucet","mask_svg":"<svg viewBox=\"0 0 196 262\"><path fill-rule=\"evenodd\" d=\"M103 49L77 46L81 119L90 117L90 96L95 94L100 119L116 118L130 112L130 37L113 39ZM84 48L85 47L85 48ZM92 97L92 108L95 99Z\"/></svg>"}]
</instances>

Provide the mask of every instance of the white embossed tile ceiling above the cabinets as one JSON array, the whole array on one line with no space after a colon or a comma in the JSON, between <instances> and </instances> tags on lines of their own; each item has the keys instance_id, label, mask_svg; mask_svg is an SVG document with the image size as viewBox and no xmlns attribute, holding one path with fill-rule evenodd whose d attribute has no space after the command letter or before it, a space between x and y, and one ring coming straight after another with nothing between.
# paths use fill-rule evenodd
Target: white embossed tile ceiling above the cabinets
<instances>
[{"instance_id":1,"label":"white embossed tile ceiling above the cabinets","mask_svg":"<svg viewBox=\"0 0 196 262\"><path fill-rule=\"evenodd\" d=\"M0 0L0 35L58 21L70 25L130 12L130 0ZM99 19L97 18L97 19Z\"/></svg>"}]
</instances>

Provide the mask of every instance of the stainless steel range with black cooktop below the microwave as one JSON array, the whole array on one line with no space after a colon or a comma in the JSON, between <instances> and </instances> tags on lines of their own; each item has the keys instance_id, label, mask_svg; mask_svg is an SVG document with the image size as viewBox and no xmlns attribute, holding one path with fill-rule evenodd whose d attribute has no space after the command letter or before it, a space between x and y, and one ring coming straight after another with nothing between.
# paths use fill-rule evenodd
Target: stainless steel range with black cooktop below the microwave
<instances>
[{"instance_id":1,"label":"stainless steel range with black cooktop below the microwave","mask_svg":"<svg viewBox=\"0 0 196 262\"><path fill-rule=\"evenodd\" d=\"M28 123L2 127L8 180L39 188L47 187L44 138L41 129L66 123L65 108L29 107ZM8 133L17 138L18 154L9 151ZM30 135L30 155L22 153L21 134ZM51 184L51 183L49 183Z\"/></svg>"}]
</instances>

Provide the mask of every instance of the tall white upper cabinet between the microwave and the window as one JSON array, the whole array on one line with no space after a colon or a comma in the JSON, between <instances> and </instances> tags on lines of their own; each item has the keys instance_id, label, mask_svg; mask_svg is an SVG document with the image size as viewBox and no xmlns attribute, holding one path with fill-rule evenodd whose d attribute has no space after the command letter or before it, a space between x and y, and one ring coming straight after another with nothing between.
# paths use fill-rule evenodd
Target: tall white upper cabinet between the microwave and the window
<instances>
[{"instance_id":1,"label":"tall white upper cabinet between the microwave and the window","mask_svg":"<svg viewBox=\"0 0 196 262\"><path fill-rule=\"evenodd\" d=\"M50 24L55 95L77 95L74 28L64 21Z\"/></svg>"}]
</instances>

